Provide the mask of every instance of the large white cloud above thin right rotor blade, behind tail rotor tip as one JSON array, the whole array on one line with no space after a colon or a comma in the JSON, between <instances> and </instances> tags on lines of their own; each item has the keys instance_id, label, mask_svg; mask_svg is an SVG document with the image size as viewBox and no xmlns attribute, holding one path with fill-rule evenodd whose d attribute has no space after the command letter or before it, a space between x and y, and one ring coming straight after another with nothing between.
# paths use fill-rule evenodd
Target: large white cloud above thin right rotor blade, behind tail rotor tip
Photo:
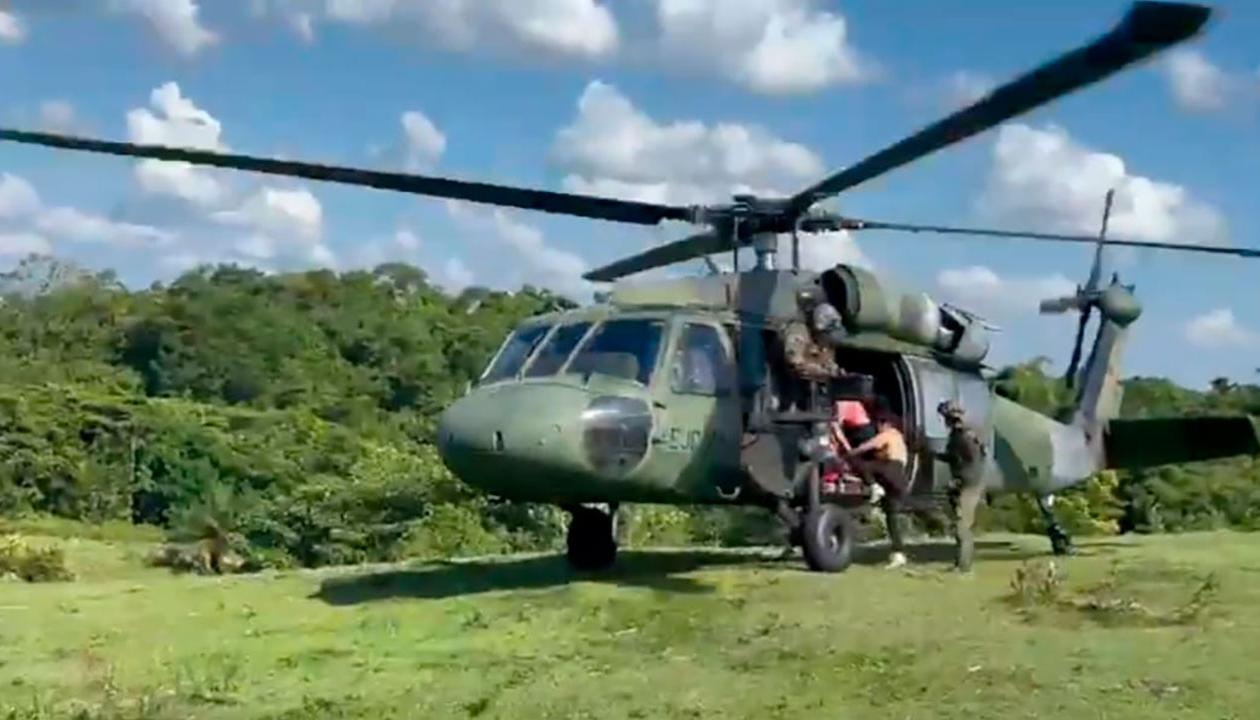
<instances>
[{"instance_id":1,"label":"large white cloud above thin right rotor blade, behind tail rotor tip","mask_svg":"<svg viewBox=\"0 0 1260 720\"><path fill-rule=\"evenodd\" d=\"M1227 237L1221 213L1184 187L1133 174L1119 156L1086 148L1056 126L1011 124L998 131L979 206L1026 229L1096 233L1113 188L1110 235L1203 245Z\"/></svg>"}]
</instances>

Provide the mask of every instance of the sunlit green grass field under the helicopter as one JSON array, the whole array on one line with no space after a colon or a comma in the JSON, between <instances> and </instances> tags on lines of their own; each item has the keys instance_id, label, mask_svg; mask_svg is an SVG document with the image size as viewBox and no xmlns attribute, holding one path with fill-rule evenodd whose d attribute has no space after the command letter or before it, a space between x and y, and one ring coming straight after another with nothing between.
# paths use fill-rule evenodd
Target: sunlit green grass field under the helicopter
<instances>
[{"instance_id":1,"label":"sunlit green grass field under the helicopter","mask_svg":"<svg viewBox=\"0 0 1260 720\"><path fill-rule=\"evenodd\" d=\"M0 583L0 717L1255 717L1260 536L987 537L842 575L777 550L173 576L55 538ZM1016 583L1019 567L1032 580Z\"/></svg>"}]
</instances>

